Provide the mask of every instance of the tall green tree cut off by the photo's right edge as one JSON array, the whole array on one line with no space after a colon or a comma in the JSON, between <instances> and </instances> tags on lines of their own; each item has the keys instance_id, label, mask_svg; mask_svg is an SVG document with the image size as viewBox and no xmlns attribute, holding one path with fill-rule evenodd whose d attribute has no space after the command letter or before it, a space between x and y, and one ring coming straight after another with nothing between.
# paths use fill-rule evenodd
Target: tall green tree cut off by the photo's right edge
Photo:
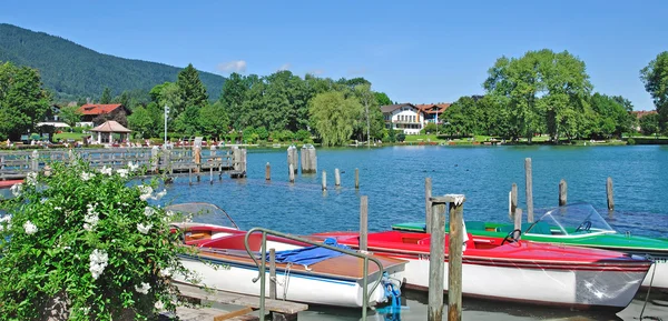
<instances>
[{"instance_id":1,"label":"tall green tree cut off by the photo's right edge","mask_svg":"<svg viewBox=\"0 0 668 321\"><path fill-rule=\"evenodd\" d=\"M666 128L668 121L668 51L657 54L657 58L642 68L640 79L659 112L660 126Z\"/></svg>"}]
</instances>

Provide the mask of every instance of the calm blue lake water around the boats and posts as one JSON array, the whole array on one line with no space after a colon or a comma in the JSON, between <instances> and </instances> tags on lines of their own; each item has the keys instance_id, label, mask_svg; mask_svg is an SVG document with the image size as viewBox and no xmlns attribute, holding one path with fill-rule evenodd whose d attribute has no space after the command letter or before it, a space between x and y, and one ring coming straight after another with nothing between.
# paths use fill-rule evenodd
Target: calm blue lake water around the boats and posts
<instances>
[{"instance_id":1,"label":"calm blue lake water around the boats and posts","mask_svg":"<svg viewBox=\"0 0 668 321\"><path fill-rule=\"evenodd\" d=\"M466 195L464 219L508 221L508 192L519 187L524 204L524 158L532 158L537 211L557 205L560 179L568 182L568 200L588 201L607 213L606 179L615 181L615 218L619 231L668 238L668 148L665 147L387 147L373 149L318 149L318 173L296 177L287 183L284 148L248 151L248 178L224 177L209 184L188 184L179 177L168 187L169 201L203 201L225 209L242 229L265 227L289 233L357 230L360 195L369 195L369 227L380 231L393 223L424 219L424 178L431 177L433 194ZM272 181L264 179L272 164ZM342 187L334 187L334 169L342 171ZM355 168L360 190L354 189ZM327 172L328 190L321 190ZM214 221L215 222L215 221ZM666 300L666 299L664 299ZM401 320L425 320L426 299L404 298ZM513 304L464 300L465 320L537 320L586 315L593 320L632 320L642 301L617 315L582 314ZM668 319L668 309L650 304L646 315ZM649 313L648 313L649 312ZM370 320L400 320L375 314ZM358 311L316 308L301 320L358 320ZM587 319L579 319L587 320Z\"/></svg>"}]
</instances>

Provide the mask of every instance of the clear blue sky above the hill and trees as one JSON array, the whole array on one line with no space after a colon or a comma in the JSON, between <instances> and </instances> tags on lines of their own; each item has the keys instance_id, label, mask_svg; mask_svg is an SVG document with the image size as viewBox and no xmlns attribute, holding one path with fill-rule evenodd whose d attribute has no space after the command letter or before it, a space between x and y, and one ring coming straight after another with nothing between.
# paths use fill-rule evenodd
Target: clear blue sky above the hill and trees
<instances>
[{"instance_id":1,"label":"clear blue sky above the hill and trees","mask_svg":"<svg viewBox=\"0 0 668 321\"><path fill-rule=\"evenodd\" d=\"M102 3L105 2L105 3ZM24 1L0 21L96 51L228 74L287 68L364 77L400 102L483 93L501 56L568 50L595 90L654 109L638 74L666 41L668 1Z\"/></svg>"}]
</instances>

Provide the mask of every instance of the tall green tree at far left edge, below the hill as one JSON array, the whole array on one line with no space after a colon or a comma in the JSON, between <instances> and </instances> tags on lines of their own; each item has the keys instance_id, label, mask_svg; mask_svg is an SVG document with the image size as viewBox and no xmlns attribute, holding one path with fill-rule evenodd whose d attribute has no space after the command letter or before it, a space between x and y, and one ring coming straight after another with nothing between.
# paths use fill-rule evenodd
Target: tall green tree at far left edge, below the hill
<instances>
[{"instance_id":1,"label":"tall green tree at far left edge, below the hill","mask_svg":"<svg viewBox=\"0 0 668 321\"><path fill-rule=\"evenodd\" d=\"M42 88L39 72L9 62L0 64L0 137L19 140L35 131L50 108L51 97Z\"/></svg>"}]
</instances>

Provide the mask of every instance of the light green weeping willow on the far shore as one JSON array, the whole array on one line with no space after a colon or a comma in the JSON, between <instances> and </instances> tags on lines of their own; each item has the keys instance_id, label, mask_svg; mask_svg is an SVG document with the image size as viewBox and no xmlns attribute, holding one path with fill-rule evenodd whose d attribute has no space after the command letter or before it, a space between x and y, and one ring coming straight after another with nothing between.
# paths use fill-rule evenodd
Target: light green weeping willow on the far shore
<instances>
[{"instance_id":1,"label":"light green weeping willow on the far shore","mask_svg":"<svg viewBox=\"0 0 668 321\"><path fill-rule=\"evenodd\" d=\"M318 93L308 106L311 126L325 147L347 143L362 112L362 104L356 98L346 97L338 91Z\"/></svg>"}]
</instances>

